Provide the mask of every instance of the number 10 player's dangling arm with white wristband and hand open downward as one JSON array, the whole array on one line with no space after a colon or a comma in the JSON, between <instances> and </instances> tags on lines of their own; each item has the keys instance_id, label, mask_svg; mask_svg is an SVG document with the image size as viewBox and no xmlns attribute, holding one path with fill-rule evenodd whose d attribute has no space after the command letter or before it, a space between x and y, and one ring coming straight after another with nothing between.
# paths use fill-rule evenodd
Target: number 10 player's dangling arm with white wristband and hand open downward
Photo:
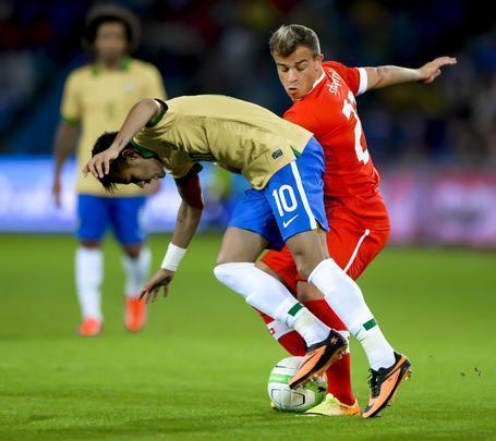
<instances>
[{"instance_id":1,"label":"number 10 player's dangling arm with white wristband and hand open downward","mask_svg":"<svg viewBox=\"0 0 496 441\"><path fill-rule=\"evenodd\" d=\"M147 303L149 301L155 302L160 287L164 287L164 297L167 297L169 294L169 284L177 269L173 260L178 257L179 259L182 258L182 255L196 233L199 219L202 218L204 201L198 175L194 174L191 177L186 176L185 180L178 180L177 185L182 200L169 249L164 259L162 267L155 272L140 293L140 298L145 298Z\"/></svg>"}]
</instances>

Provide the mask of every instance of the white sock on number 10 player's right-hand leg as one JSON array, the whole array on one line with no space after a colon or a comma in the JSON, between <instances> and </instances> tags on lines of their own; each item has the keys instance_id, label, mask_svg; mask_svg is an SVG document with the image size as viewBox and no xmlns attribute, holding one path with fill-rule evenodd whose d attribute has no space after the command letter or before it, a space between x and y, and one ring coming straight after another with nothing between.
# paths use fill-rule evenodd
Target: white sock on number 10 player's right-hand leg
<instances>
[{"instance_id":1,"label":"white sock on number 10 player's right-hand leg","mask_svg":"<svg viewBox=\"0 0 496 441\"><path fill-rule=\"evenodd\" d=\"M360 341L373 369L395 363L394 350L377 326L362 291L332 259L318 264L309 282L324 293L327 303Z\"/></svg>"}]
</instances>

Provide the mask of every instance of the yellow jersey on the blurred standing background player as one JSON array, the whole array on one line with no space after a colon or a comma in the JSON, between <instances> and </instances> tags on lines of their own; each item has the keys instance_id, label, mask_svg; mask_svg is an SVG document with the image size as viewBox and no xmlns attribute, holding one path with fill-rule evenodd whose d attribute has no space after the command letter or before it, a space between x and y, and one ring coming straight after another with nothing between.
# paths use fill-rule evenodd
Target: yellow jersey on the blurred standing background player
<instances>
[{"instance_id":1,"label":"yellow jersey on the blurred standing background player","mask_svg":"<svg viewBox=\"0 0 496 441\"><path fill-rule=\"evenodd\" d=\"M96 64L76 69L69 75L61 105L62 119L81 126L77 143L76 192L110 197L93 176L83 176L84 164L92 158L92 148L104 132L117 132L130 109L140 99L164 97L162 81L158 70L140 60L124 59L121 70L102 70ZM113 196L144 194L135 185L119 185Z\"/></svg>"}]
</instances>

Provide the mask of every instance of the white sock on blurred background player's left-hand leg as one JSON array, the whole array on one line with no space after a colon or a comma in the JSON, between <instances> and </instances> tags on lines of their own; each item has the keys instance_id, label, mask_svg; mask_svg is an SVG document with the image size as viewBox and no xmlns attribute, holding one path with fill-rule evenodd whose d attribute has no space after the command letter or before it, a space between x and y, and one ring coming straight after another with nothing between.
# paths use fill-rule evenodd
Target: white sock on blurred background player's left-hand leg
<instances>
[{"instance_id":1,"label":"white sock on blurred background player's left-hand leg","mask_svg":"<svg viewBox=\"0 0 496 441\"><path fill-rule=\"evenodd\" d=\"M99 248L80 246L75 258L76 292L83 318L102 319L100 284L104 277L102 257Z\"/></svg>"}]
</instances>

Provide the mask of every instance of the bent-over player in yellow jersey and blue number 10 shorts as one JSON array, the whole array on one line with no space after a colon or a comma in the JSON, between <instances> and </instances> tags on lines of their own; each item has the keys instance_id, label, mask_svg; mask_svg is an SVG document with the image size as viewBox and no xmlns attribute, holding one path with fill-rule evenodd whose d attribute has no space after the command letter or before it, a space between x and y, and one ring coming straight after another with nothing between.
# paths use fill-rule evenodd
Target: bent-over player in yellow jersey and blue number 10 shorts
<instances>
[{"instance_id":1,"label":"bent-over player in yellow jersey and blue number 10 shorts","mask_svg":"<svg viewBox=\"0 0 496 441\"><path fill-rule=\"evenodd\" d=\"M324 209L324 154L312 133L250 102L222 96L179 97L166 102L145 99L133 107L119 133L100 136L84 168L108 188L117 183L146 183L168 171L182 204L161 268L142 290L155 299L167 295L178 265L202 215L197 161L215 161L241 172L252 184L225 233L216 277L246 302L297 330L307 352L289 385L295 388L327 369L347 351L341 334L311 314L276 278L254 262L265 248L286 243L299 273L320 290L348 329L373 339L365 352L389 347L356 283L329 258L328 223ZM370 342L368 342L370 343ZM384 388L384 400L408 376L410 362L401 356ZM374 385L375 387L375 385Z\"/></svg>"}]
</instances>

